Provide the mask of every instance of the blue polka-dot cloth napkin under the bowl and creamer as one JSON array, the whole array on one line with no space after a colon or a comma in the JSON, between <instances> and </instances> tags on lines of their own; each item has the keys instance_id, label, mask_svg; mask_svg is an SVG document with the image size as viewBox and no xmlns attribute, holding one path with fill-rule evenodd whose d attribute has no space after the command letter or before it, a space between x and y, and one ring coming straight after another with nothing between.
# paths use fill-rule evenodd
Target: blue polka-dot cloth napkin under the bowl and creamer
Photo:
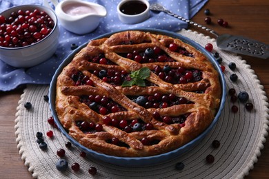
<instances>
[{"instance_id":1,"label":"blue polka-dot cloth napkin under the bowl and creamer","mask_svg":"<svg viewBox=\"0 0 269 179\"><path fill-rule=\"evenodd\" d=\"M89 0L88 0L89 1ZM0 91L10 91L16 89L25 84L50 84L52 76L55 70L66 59L68 54L72 52L71 45L82 45L90 39L105 34L108 32L115 32L119 30L128 30L134 28L156 28L161 30L169 30L177 32L181 28L188 28L188 24L183 21L179 21L175 17L171 17L163 12L150 12L150 18L142 23L133 25L126 25L119 21L117 16L117 4L120 0L112 1L90 1L93 3L99 3L104 6L108 11L108 14L103 18L99 24L99 27L89 34L77 35L72 32L68 32L59 24L60 36L59 47L55 54L39 65L30 68L16 68L7 65L0 60ZM207 2L208 0L149 0L150 3L161 3L167 9L175 12L176 14L185 17L186 19L192 18ZM11 8L12 6L19 6L23 4L38 4L42 5L41 0L0 0L0 12Z\"/></svg>"}]
</instances>

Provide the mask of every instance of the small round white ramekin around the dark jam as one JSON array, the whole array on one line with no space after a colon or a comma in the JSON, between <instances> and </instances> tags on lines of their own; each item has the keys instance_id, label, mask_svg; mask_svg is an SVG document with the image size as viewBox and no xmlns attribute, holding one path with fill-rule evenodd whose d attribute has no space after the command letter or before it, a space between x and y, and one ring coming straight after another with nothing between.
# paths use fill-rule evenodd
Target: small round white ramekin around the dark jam
<instances>
[{"instance_id":1,"label":"small round white ramekin around the dark jam","mask_svg":"<svg viewBox=\"0 0 269 179\"><path fill-rule=\"evenodd\" d=\"M121 12L122 6L126 5L126 3L130 3L130 1L134 2L141 2L146 5L146 9L143 10L143 12L139 14L125 14ZM132 10L137 10L137 7L132 7ZM126 24L134 24L134 23L141 23L143 21L146 21L150 17L150 3L148 3L147 0L123 0L120 1L118 6L117 6L117 12L118 12L118 17L119 20L123 23Z\"/></svg>"}]
</instances>

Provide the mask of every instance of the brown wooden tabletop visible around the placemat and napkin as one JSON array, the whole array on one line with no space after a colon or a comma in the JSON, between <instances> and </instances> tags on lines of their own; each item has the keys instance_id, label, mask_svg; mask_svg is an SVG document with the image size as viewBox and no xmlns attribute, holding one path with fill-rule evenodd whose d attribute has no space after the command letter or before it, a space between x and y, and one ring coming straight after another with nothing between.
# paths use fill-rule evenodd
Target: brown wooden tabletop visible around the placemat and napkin
<instances>
[{"instance_id":1,"label":"brown wooden tabletop visible around the placemat and napkin","mask_svg":"<svg viewBox=\"0 0 269 179\"><path fill-rule=\"evenodd\" d=\"M206 15L203 13L206 8L212 13L210 14L212 24L208 27L219 34L240 34L269 44L269 1L209 0L192 20L206 25L204 22ZM223 28L217 24L217 19L220 18L228 21L228 28ZM190 29L203 32L193 27ZM269 97L269 59L242 57L255 70L264 86L266 95ZM19 156L14 134L16 107L22 93L23 89L0 92L0 178L32 178L28 168L23 164L21 156ZM246 178L269 178L269 141L264 144L261 156L254 166Z\"/></svg>"}]
</instances>

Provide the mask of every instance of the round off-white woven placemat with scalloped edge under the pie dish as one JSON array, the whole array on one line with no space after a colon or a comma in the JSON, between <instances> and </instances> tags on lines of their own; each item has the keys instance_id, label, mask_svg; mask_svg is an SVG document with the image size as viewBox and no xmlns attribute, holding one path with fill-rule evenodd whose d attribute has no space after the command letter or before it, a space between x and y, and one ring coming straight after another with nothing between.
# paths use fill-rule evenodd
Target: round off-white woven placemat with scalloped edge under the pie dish
<instances>
[{"instance_id":1,"label":"round off-white woven placemat with scalloped edge under the pie dish","mask_svg":"<svg viewBox=\"0 0 269 179\"><path fill-rule=\"evenodd\" d=\"M199 145L178 158L167 162L158 163L150 167L119 167L94 158L81 158L80 151L72 147L66 149L66 137L57 129L48 124L47 119L51 116L48 102L43 96L48 94L47 85L28 85L21 95L17 107L15 129L19 154L29 167L34 178L243 178L253 168L260 150L266 141L268 130L268 99L263 91L263 86L250 65L240 56L218 50L215 39L198 34L190 30L181 30L179 34L200 43L212 43L215 51L223 58L223 65L227 89L235 88L237 93L246 91L250 94L249 101L255 108L251 112L246 111L243 103L230 102L230 96L226 96L226 105L221 113L217 125L210 131ZM231 71L228 63L235 62L237 70ZM230 74L236 73L239 77L237 82L230 81ZM32 109L23 107L24 103L32 103ZM231 106L237 105L239 111L231 112ZM46 131L54 132L53 138L46 137ZM37 131L45 134L48 150L42 151L36 142ZM221 146L213 149L213 140L219 140ZM66 159L69 167L65 172L60 172L55 167L59 159L57 149L66 150ZM206 156L215 156L215 162L208 164ZM70 165L78 162L81 169L72 171ZM181 171L175 169L177 162L183 162L185 167ZM97 174L92 177L88 173L90 167L97 168Z\"/></svg>"}]
</instances>

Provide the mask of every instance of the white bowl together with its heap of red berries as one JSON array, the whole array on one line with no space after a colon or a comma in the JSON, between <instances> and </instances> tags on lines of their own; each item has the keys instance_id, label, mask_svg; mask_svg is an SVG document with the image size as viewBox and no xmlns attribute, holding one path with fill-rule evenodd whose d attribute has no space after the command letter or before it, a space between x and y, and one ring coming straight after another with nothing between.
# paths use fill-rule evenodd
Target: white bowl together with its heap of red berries
<instances>
[{"instance_id":1,"label":"white bowl together with its heap of red berries","mask_svg":"<svg viewBox=\"0 0 269 179\"><path fill-rule=\"evenodd\" d=\"M0 13L0 59L12 67L32 67L50 58L59 43L57 16L38 5Z\"/></svg>"}]
</instances>

